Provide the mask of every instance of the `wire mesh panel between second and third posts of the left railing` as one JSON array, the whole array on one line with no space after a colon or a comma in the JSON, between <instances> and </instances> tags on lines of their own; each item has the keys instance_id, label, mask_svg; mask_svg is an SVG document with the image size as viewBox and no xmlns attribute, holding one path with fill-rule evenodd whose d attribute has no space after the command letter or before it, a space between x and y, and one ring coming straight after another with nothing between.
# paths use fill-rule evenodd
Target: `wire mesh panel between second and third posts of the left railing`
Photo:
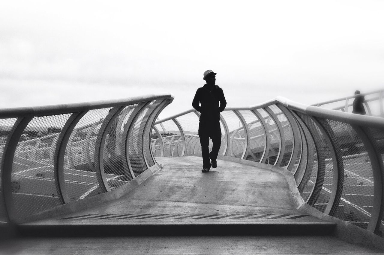
<instances>
[{"instance_id":1,"label":"wire mesh panel between second and third posts of the left railing","mask_svg":"<svg viewBox=\"0 0 384 255\"><path fill-rule=\"evenodd\" d=\"M64 179L71 200L100 194L94 168L94 151L100 126L110 109L88 111L70 136L64 157Z\"/></svg>"}]
</instances>

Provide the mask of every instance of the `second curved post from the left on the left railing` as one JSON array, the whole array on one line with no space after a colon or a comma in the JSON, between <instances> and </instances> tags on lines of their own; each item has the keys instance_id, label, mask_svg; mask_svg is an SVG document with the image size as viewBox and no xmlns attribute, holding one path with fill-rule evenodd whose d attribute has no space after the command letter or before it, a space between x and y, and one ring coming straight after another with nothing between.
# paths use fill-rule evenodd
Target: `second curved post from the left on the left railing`
<instances>
[{"instance_id":1,"label":"second curved post from the left on the left railing","mask_svg":"<svg viewBox=\"0 0 384 255\"><path fill-rule=\"evenodd\" d=\"M53 172L55 175L56 190L61 204L66 204L70 201L68 192L66 190L64 178L65 149L71 137L73 129L86 113L87 111L73 113L65 123L55 144L52 144L52 146L55 146L56 148L53 156Z\"/></svg>"}]
</instances>

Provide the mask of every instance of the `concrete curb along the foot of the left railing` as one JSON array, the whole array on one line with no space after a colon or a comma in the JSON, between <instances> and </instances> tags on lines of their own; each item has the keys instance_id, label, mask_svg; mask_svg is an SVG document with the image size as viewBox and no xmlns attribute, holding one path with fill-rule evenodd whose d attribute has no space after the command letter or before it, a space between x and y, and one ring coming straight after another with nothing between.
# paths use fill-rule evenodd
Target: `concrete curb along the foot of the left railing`
<instances>
[{"instance_id":1,"label":"concrete curb along the foot of the left railing","mask_svg":"<svg viewBox=\"0 0 384 255\"><path fill-rule=\"evenodd\" d=\"M159 164L156 163L152 167L142 172L138 177L134 178L133 180L129 181L123 186L117 188L116 190L113 190L107 193L102 193L100 195L92 196L89 198L84 198L78 201L71 201L68 204L63 204L61 206L33 214L31 216L25 217L23 220L17 222L17 224L24 223L24 222L38 221L41 219L47 219L51 217L57 217L63 214L70 214L70 213L82 211L84 209L87 209L97 204L103 204L103 203L121 198L122 196L126 195L129 191L139 186L149 177L154 175L154 173L156 173L160 169L161 167L159 166Z\"/></svg>"}]
</instances>

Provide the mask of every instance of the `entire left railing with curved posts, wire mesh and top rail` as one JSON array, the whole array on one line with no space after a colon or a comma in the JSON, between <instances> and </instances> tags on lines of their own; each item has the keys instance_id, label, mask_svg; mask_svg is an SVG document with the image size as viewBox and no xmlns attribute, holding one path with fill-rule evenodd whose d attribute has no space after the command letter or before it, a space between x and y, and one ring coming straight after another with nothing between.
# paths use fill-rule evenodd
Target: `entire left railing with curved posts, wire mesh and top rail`
<instances>
[{"instance_id":1,"label":"entire left railing with curved posts, wire mesh and top rail","mask_svg":"<svg viewBox=\"0 0 384 255\"><path fill-rule=\"evenodd\" d=\"M115 190L154 166L152 127L172 100L0 110L0 222Z\"/></svg>"}]
</instances>

